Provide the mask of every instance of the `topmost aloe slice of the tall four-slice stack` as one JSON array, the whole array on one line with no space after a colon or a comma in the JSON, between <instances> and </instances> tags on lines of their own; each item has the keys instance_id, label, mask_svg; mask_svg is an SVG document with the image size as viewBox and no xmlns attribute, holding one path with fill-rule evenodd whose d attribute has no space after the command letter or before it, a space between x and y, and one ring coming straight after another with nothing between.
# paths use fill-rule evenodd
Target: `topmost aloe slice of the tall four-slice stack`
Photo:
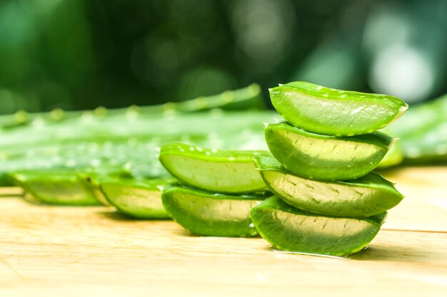
<instances>
[{"instance_id":1,"label":"topmost aloe slice of the tall four-slice stack","mask_svg":"<svg viewBox=\"0 0 447 297\"><path fill-rule=\"evenodd\" d=\"M288 123L323 135L371 133L391 124L408 108L390 95L336 90L303 81L271 88L270 97Z\"/></svg>"}]
</instances>

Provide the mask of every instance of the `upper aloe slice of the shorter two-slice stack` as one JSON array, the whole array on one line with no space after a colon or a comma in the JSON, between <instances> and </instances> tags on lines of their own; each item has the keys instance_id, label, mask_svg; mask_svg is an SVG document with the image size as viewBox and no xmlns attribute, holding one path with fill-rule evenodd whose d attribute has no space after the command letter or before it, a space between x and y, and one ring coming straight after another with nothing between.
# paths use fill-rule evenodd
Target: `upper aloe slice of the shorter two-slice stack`
<instances>
[{"instance_id":1,"label":"upper aloe slice of the shorter two-slice stack","mask_svg":"<svg viewBox=\"0 0 447 297\"><path fill-rule=\"evenodd\" d=\"M267 187L253 157L266 151L216 150L173 143L161 147L159 160L174 177L210 192L262 192Z\"/></svg>"}]
</instances>

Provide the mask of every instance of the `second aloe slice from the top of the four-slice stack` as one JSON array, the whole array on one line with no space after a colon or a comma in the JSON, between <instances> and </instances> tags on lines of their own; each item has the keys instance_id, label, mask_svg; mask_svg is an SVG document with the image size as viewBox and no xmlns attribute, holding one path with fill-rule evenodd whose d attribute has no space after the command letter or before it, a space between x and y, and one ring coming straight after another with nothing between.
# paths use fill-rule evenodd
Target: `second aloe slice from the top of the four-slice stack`
<instances>
[{"instance_id":1,"label":"second aloe slice from the top of the four-slice stack","mask_svg":"<svg viewBox=\"0 0 447 297\"><path fill-rule=\"evenodd\" d=\"M318 135L287 123L266 126L268 148L288 171L321 180L355 179L378 165L393 143L382 132L352 137Z\"/></svg>"}]
</instances>

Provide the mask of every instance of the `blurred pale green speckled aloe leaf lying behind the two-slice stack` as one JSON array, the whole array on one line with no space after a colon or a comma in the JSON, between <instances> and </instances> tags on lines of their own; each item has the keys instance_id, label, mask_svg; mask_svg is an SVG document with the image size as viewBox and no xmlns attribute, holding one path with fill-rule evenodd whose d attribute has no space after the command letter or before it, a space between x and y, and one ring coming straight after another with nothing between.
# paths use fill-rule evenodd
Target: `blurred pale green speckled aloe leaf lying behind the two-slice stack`
<instances>
[{"instance_id":1,"label":"blurred pale green speckled aloe leaf lying behind the two-slice stack","mask_svg":"<svg viewBox=\"0 0 447 297\"><path fill-rule=\"evenodd\" d=\"M11 184L6 176L16 171L104 166L129 167L135 177L169 177L158 160L161 145L187 141L204 147L265 150L262 122L275 116L268 111L212 110L165 118L82 117L16 127L0 134L0 181Z\"/></svg>"}]
</instances>

